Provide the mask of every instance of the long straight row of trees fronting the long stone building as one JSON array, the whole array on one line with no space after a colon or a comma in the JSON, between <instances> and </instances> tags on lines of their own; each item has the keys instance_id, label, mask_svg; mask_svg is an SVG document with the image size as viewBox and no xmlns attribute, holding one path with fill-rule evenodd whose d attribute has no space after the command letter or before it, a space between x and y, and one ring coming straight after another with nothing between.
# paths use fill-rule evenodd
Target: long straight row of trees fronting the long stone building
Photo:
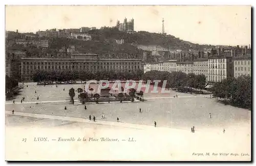
<instances>
[{"instance_id":1,"label":"long straight row of trees fronting the long stone building","mask_svg":"<svg viewBox=\"0 0 256 166\"><path fill-rule=\"evenodd\" d=\"M143 75L142 70L129 71L36 71L32 79L34 82L41 81L70 81L70 80L140 80Z\"/></svg>"}]
</instances>

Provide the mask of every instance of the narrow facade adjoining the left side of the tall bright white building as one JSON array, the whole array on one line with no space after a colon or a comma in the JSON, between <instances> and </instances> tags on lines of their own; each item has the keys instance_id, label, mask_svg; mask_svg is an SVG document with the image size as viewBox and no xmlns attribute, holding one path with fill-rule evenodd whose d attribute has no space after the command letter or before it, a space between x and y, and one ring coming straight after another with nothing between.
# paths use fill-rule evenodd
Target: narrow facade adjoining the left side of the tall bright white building
<instances>
[{"instance_id":1,"label":"narrow facade adjoining the left side of the tall bright white building","mask_svg":"<svg viewBox=\"0 0 256 166\"><path fill-rule=\"evenodd\" d=\"M193 62L194 74L204 74L207 80L208 77L208 59L196 59Z\"/></svg>"}]
</instances>

